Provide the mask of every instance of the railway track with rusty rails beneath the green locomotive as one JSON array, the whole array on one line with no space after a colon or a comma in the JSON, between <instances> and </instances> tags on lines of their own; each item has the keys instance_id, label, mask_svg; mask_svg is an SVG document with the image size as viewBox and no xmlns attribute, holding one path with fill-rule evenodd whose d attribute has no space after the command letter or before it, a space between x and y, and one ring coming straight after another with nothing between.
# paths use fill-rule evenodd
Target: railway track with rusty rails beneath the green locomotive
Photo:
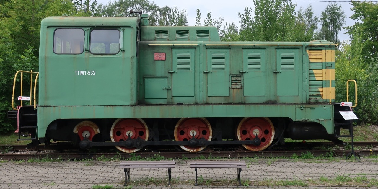
<instances>
[{"instance_id":1,"label":"railway track with rusty rails beneath the green locomotive","mask_svg":"<svg viewBox=\"0 0 378 189\"><path fill-rule=\"evenodd\" d=\"M355 142L355 152L360 156L378 155L378 142ZM291 157L293 154L311 153L313 156L345 156L350 150L349 143L336 145L334 143L286 143L285 148L275 147L271 150L252 152L241 147L225 149L213 149L208 147L201 152L174 152L175 148L167 149L143 149L143 152L133 154L120 153L116 149L97 148L94 150L82 151L69 144L53 144L49 146L37 146L27 149L26 146L0 146L0 160L29 160L32 158L51 158L53 160L84 160L84 159L122 159L140 156L141 158L156 158L156 154L164 158L240 158L240 157ZM141 150L142 151L142 150ZM158 153L159 152L159 153Z\"/></svg>"}]
</instances>

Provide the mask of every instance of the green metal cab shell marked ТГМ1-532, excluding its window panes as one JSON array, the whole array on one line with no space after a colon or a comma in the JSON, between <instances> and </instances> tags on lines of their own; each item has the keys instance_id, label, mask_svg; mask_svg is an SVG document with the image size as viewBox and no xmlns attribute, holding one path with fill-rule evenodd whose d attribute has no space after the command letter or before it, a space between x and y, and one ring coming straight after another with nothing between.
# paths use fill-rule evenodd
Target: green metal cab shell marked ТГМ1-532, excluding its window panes
<instances>
[{"instance_id":1,"label":"green metal cab shell marked \u0422\u0413\u041c1-532, excluding its window panes","mask_svg":"<svg viewBox=\"0 0 378 189\"><path fill-rule=\"evenodd\" d=\"M49 17L42 20L39 106L137 104L135 81L138 61L135 56L137 21L135 18L126 19L125 17L114 19ZM96 26L96 28L91 26ZM85 36L79 45L82 45L84 52L55 54L53 44L57 28L83 29ZM122 34L125 36L129 36L122 37L125 51L119 51L116 54L89 53L91 48L89 34L98 28L116 29L123 31ZM71 38L66 43L73 46L75 40Z\"/></svg>"}]
</instances>

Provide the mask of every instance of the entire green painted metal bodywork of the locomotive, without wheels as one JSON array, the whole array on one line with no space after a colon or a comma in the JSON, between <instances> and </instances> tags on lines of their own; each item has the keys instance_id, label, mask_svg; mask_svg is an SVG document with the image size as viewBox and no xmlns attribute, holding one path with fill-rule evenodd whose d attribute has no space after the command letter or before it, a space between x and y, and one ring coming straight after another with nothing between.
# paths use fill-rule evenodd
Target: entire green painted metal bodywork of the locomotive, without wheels
<instances>
[{"instance_id":1,"label":"entire green painted metal bodywork of the locomotive, without wheels","mask_svg":"<svg viewBox=\"0 0 378 189\"><path fill-rule=\"evenodd\" d=\"M313 71L334 69L334 62L309 62L307 54L334 50L327 45L332 43L220 42L214 27L140 27L139 22L136 17L42 21L38 137L56 119L95 118L284 117L319 122L334 132L333 105L321 94L329 80L317 80ZM82 29L83 52L54 53L58 28ZM99 28L119 31L118 53L93 54L103 52L91 51L100 43L91 42L91 31ZM232 87L239 77L242 85Z\"/></svg>"}]
</instances>

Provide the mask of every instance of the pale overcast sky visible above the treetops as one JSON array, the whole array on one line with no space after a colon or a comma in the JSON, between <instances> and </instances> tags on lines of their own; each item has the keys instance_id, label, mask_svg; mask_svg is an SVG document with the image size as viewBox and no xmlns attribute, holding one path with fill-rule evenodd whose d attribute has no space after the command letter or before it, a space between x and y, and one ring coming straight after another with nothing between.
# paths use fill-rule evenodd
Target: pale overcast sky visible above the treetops
<instances>
[{"instance_id":1,"label":"pale overcast sky visible above the treetops","mask_svg":"<svg viewBox=\"0 0 378 189\"><path fill-rule=\"evenodd\" d=\"M114 1L114 0L113 0ZM322 1L322 0L321 0ZM108 4L108 0L97 0L98 3L102 3L104 5ZM152 2L152 0L150 0ZM244 7L248 6L254 9L253 0L235 0L235 1L225 1L225 0L156 0L154 1L158 6L169 6L177 8L182 11L183 9L186 10L188 14L188 21L189 26L195 25L195 17L196 17L196 10L197 8L200 9L201 12L201 19L202 23L203 20L207 17L207 12L211 12L211 15L214 19L218 19L219 16L223 17L224 23L225 22L234 22L239 28L239 17L238 12L243 13ZM296 11L303 7L305 9L307 5L311 5L315 15L320 16L321 12L327 7L330 2L314 2L314 1L294 1L293 3L297 3ZM350 10L352 5L350 2L336 2L338 5L342 6L345 14L347 15L346 24L345 26L352 26L354 24L354 20L349 19L349 17L353 14L353 11ZM320 25L319 25L320 27ZM345 31L342 30L339 32L339 39L347 40L349 36L344 34Z\"/></svg>"}]
</instances>

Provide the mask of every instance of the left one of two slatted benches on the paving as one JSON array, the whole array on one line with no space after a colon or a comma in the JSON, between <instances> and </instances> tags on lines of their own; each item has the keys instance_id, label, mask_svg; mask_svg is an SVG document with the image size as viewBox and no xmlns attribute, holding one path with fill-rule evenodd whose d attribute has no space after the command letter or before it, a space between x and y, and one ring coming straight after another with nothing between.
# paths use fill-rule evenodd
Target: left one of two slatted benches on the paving
<instances>
[{"instance_id":1,"label":"left one of two slatted benches on the paving","mask_svg":"<svg viewBox=\"0 0 378 189\"><path fill-rule=\"evenodd\" d=\"M119 168L125 169L125 186L127 177L130 181L130 168L135 169L152 169L152 168L168 168L168 185L170 185L171 168L175 168L176 161L121 161Z\"/></svg>"}]
</instances>

